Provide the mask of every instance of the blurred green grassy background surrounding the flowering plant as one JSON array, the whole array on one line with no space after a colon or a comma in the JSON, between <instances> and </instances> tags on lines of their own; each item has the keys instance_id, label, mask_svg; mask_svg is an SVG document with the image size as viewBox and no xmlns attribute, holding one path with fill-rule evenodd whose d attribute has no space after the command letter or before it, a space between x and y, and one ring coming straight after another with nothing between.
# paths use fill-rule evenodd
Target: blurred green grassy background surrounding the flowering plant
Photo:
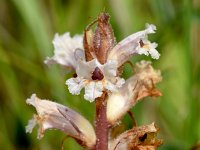
<instances>
[{"instance_id":1,"label":"blurred green grassy background surrounding the flowering plant","mask_svg":"<svg viewBox=\"0 0 200 150\"><path fill-rule=\"evenodd\" d=\"M53 55L56 32L83 33L87 24L103 10L111 15L117 41L144 29L146 22L157 26L150 39L159 44L163 96L146 98L132 110L139 125L156 122L160 150L185 150L200 142L200 0L0 0L0 149L61 149L65 134L48 131L37 140L37 131L25 133L35 110L26 98L36 93L70 106L91 122L94 104L83 96L72 96L65 86L66 74L57 65L43 64ZM135 56L132 62L150 59ZM132 74L125 66L123 76ZM152 100L153 99L153 100ZM131 128L128 116L123 120ZM73 139L66 150L81 149Z\"/></svg>"}]
</instances>

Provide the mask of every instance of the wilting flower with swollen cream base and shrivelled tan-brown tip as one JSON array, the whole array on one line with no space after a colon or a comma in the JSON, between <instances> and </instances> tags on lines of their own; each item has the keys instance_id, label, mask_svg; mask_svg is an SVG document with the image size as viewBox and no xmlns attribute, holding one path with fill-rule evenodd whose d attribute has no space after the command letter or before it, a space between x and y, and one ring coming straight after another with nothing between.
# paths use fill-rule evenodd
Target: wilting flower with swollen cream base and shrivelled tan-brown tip
<instances>
[{"instance_id":1,"label":"wilting flower with swollen cream base and shrivelled tan-brown tip","mask_svg":"<svg viewBox=\"0 0 200 150\"><path fill-rule=\"evenodd\" d=\"M107 118L110 124L119 121L140 99L147 96L161 96L155 84L162 80L161 73L154 70L150 62L136 64L135 75L108 97Z\"/></svg>"}]
</instances>

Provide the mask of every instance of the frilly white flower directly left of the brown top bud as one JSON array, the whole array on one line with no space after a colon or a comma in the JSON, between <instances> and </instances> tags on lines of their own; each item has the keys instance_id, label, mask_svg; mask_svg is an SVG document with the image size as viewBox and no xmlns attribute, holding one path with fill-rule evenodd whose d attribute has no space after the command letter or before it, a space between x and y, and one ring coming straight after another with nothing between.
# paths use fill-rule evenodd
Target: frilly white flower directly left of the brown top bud
<instances>
[{"instance_id":1,"label":"frilly white flower directly left of the brown top bud","mask_svg":"<svg viewBox=\"0 0 200 150\"><path fill-rule=\"evenodd\" d=\"M83 49L83 35L70 36L67 32L63 35L55 34L53 39L54 56L47 57L44 61L45 64L60 64L64 67L72 69L76 68L77 60L75 58L75 52L77 49Z\"/></svg>"}]
</instances>

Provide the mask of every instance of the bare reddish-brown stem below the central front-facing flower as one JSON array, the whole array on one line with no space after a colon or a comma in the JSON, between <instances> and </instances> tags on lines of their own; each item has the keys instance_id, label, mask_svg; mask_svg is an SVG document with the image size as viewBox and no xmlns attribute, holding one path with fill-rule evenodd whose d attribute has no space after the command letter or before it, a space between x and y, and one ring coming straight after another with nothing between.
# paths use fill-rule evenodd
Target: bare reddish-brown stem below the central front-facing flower
<instances>
[{"instance_id":1,"label":"bare reddish-brown stem below the central front-facing flower","mask_svg":"<svg viewBox=\"0 0 200 150\"><path fill-rule=\"evenodd\" d=\"M106 96L104 93L96 99L96 148L95 150L108 150L108 122L106 115Z\"/></svg>"}]
</instances>

